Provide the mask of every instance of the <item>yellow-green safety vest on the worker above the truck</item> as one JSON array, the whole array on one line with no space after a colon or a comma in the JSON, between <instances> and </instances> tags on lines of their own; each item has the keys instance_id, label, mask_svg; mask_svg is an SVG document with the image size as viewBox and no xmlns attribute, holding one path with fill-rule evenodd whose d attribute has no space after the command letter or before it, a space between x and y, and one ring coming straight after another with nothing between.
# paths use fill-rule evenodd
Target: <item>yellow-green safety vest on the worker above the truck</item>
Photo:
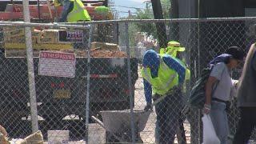
<instances>
[{"instance_id":1,"label":"yellow-green safety vest on the worker above the truck","mask_svg":"<svg viewBox=\"0 0 256 144\"><path fill-rule=\"evenodd\" d=\"M81 0L74 0L74 8L67 15L67 22L90 21L90 15Z\"/></svg>"}]
</instances>

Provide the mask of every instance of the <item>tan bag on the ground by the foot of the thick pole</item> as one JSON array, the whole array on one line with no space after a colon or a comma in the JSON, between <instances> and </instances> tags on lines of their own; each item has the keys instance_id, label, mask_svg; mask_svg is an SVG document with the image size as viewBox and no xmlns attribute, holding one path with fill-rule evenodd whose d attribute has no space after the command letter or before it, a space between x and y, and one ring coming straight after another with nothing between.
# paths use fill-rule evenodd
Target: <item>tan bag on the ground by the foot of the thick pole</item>
<instances>
[{"instance_id":1,"label":"tan bag on the ground by the foot of the thick pole","mask_svg":"<svg viewBox=\"0 0 256 144\"><path fill-rule=\"evenodd\" d=\"M40 130L38 130L34 134L30 134L24 140L26 140L26 143L21 144L43 144L43 137Z\"/></svg>"}]
</instances>

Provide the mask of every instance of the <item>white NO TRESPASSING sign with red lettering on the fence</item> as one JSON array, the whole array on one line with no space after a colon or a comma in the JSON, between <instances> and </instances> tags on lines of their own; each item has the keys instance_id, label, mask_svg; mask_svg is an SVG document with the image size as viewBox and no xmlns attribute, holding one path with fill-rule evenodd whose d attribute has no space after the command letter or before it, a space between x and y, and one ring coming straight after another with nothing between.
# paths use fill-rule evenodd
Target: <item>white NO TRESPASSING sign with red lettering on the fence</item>
<instances>
[{"instance_id":1,"label":"white NO TRESPASSING sign with red lettering on the fence","mask_svg":"<svg viewBox=\"0 0 256 144\"><path fill-rule=\"evenodd\" d=\"M41 51L38 69L39 75L74 78L75 56L73 53Z\"/></svg>"}]
</instances>

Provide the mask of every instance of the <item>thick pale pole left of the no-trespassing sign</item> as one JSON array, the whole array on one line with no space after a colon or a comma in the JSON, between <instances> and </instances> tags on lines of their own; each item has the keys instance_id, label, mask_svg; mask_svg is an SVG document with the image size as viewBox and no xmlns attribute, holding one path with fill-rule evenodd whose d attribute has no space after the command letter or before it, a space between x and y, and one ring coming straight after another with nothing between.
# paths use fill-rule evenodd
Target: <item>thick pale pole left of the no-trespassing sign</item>
<instances>
[{"instance_id":1,"label":"thick pale pole left of the no-trespassing sign","mask_svg":"<svg viewBox=\"0 0 256 144\"><path fill-rule=\"evenodd\" d=\"M29 11L29 1L23 0L23 16L24 22L30 22L30 11ZM32 49L32 38L31 29L29 26L25 28L26 36L26 61L28 68L28 78L29 78L29 88L30 88L30 111L31 111L31 122L32 122L32 132L38 131L38 109L37 109L37 99L35 92L35 82L34 82L34 62L33 62L33 49Z\"/></svg>"}]
</instances>

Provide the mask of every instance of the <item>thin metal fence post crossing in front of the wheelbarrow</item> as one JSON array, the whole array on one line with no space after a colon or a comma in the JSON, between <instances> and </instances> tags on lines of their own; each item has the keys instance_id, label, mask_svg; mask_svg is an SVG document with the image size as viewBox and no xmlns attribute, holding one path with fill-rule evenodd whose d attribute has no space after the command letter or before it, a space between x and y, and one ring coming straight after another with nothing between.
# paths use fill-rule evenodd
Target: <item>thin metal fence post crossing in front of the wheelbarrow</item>
<instances>
[{"instance_id":1,"label":"thin metal fence post crossing in front of the wheelbarrow","mask_svg":"<svg viewBox=\"0 0 256 144\"><path fill-rule=\"evenodd\" d=\"M131 138L132 143L135 143L135 128L134 128L134 99L132 95L131 75L130 75L130 46L129 46L129 25L126 24L126 53L127 53L127 68L128 68L128 85L130 94L130 126L131 126Z\"/></svg>"}]
</instances>

